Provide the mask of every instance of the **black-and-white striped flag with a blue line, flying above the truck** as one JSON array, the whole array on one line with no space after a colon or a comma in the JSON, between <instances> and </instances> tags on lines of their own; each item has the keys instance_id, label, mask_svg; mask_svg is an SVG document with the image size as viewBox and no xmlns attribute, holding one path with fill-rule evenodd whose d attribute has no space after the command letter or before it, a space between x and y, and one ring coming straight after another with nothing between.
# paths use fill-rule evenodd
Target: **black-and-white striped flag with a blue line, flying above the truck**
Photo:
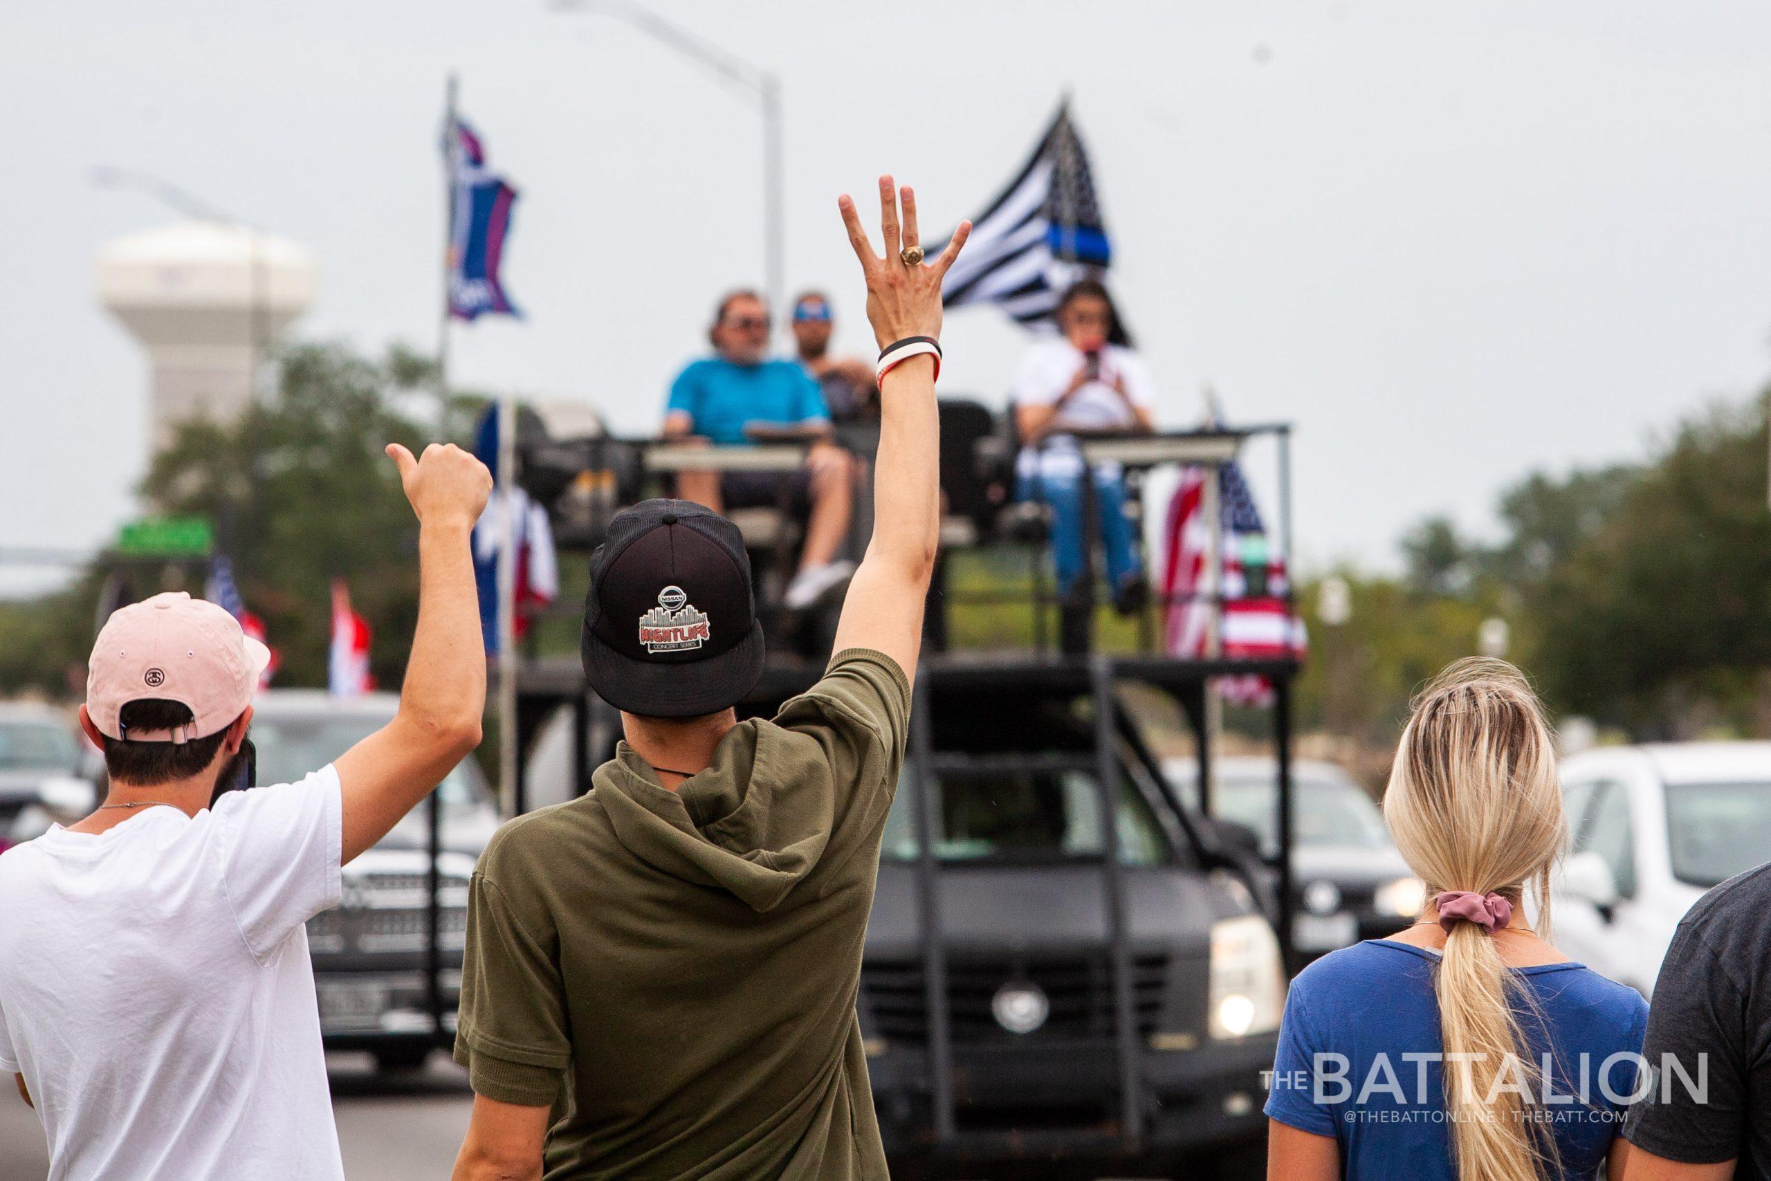
<instances>
[{"instance_id":1,"label":"black-and-white striped flag with a blue line, flying above the truck","mask_svg":"<svg viewBox=\"0 0 1771 1181\"><path fill-rule=\"evenodd\" d=\"M1020 175L972 218L965 253L942 280L942 301L949 308L995 303L1022 324L1041 324L1070 283L1100 274L1110 260L1089 158L1066 99Z\"/></svg>"}]
</instances>

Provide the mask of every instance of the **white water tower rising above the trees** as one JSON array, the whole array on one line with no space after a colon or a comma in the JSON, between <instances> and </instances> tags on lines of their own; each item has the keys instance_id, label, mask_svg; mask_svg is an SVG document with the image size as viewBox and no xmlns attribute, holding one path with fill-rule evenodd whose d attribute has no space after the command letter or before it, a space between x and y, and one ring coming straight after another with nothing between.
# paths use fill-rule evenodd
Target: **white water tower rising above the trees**
<instances>
[{"instance_id":1,"label":"white water tower rising above the trees","mask_svg":"<svg viewBox=\"0 0 1771 1181\"><path fill-rule=\"evenodd\" d=\"M227 421L251 402L259 359L313 301L315 273L306 246L218 220L99 248L99 301L147 349L154 450L188 418Z\"/></svg>"}]
</instances>

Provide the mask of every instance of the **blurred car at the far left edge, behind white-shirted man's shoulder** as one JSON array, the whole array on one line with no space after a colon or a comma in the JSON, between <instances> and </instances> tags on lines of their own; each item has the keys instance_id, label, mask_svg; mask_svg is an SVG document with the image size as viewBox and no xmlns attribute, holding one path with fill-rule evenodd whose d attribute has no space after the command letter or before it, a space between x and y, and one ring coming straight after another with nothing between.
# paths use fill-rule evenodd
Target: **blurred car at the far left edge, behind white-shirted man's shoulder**
<instances>
[{"instance_id":1,"label":"blurred car at the far left edge, behind white-shirted man's shoulder","mask_svg":"<svg viewBox=\"0 0 1771 1181\"><path fill-rule=\"evenodd\" d=\"M0 703L0 850L92 809L94 790L81 763L81 740L66 714Z\"/></svg>"}]
</instances>

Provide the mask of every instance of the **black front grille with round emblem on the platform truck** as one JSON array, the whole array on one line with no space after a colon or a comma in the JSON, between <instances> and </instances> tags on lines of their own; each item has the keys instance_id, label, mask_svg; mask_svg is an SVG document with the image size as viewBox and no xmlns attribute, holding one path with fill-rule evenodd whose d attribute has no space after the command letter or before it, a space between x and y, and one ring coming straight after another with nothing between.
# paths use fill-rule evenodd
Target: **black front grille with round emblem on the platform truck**
<instances>
[{"instance_id":1,"label":"black front grille with round emblem on the platform truck","mask_svg":"<svg viewBox=\"0 0 1771 1181\"><path fill-rule=\"evenodd\" d=\"M1139 1036L1156 1030L1169 958L1132 956L1132 1004ZM861 988L873 1030L887 1041L928 1041L928 993L921 960L864 961ZM1032 1034L1011 1034L990 1011L997 990L1031 981L1050 1002ZM1038 956L949 956L947 1013L955 1043L1029 1038L1110 1038L1114 1032L1112 960L1107 951Z\"/></svg>"}]
</instances>

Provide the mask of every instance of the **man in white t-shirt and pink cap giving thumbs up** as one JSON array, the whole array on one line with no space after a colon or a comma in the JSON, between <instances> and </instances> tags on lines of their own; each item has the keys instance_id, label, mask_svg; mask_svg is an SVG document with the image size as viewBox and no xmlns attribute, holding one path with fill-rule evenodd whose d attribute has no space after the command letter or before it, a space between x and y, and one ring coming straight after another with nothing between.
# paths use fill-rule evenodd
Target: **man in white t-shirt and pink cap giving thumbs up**
<instances>
[{"instance_id":1,"label":"man in white t-shirt and pink cap giving thumbs up","mask_svg":"<svg viewBox=\"0 0 1771 1181\"><path fill-rule=\"evenodd\" d=\"M400 467L420 607L391 722L301 783L244 784L269 653L214 604L112 614L80 724L110 793L0 855L0 1071L50 1179L342 1179L305 922L480 742L485 648L468 535L492 480L453 446Z\"/></svg>"}]
</instances>

